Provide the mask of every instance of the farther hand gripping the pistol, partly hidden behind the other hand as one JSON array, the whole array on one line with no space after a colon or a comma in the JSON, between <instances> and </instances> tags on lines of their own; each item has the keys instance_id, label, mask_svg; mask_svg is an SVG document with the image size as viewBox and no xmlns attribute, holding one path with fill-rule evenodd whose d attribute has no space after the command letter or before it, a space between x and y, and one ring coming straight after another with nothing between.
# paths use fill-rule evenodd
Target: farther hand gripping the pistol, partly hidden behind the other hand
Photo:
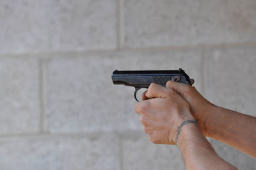
<instances>
[{"instance_id":1,"label":"farther hand gripping the pistol, partly hidden behind the other hand","mask_svg":"<svg viewBox=\"0 0 256 170\"><path fill-rule=\"evenodd\" d=\"M211 116L211 111L214 111L216 105L212 104L206 100L193 86L188 84L183 84L180 82L168 81L166 83L166 88L171 88L175 92L179 93L190 106L191 114L193 114L195 120L197 121L199 128L205 136L208 136L207 132L207 120ZM142 100L147 100L145 95L147 91L142 94Z\"/></svg>"}]
</instances>

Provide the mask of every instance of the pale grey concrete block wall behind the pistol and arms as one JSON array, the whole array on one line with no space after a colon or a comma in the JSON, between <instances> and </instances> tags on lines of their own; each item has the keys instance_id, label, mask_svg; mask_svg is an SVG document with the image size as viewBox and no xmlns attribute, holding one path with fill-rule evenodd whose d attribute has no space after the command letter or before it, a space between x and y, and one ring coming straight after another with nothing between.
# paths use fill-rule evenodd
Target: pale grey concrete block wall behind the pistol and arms
<instances>
[{"instance_id":1,"label":"pale grey concrete block wall behind the pistol and arms","mask_svg":"<svg viewBox=\"0 0 256 170\"><path fill-rule=\"evenodd\" d=\"M184 68L256 116L256 1L0 1L0 169L184 169L150 143L113 70ZM239 169L254 158L209 139Z\"/></svg>"}]
</instances>

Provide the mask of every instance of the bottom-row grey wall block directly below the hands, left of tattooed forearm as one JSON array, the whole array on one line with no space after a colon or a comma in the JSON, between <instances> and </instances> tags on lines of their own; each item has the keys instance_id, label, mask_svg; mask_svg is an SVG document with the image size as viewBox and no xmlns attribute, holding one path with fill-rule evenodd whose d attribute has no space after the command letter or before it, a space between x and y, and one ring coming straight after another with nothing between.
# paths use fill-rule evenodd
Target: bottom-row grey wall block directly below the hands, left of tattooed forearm
<instances>
[{"instance_id":1,"label":"bottom-row grey wall block directly below the hands, left of tattooed forearm","mask_svg":"<svg viewBox=\"0 0 256 170\"><path fill-rule=\"evenodd\" d=\"M137 139L124 139L122 164L124 170L167 170L184 169L184 163L177 146L152 144L147 134Z\"/></svg>"}]
</instances>

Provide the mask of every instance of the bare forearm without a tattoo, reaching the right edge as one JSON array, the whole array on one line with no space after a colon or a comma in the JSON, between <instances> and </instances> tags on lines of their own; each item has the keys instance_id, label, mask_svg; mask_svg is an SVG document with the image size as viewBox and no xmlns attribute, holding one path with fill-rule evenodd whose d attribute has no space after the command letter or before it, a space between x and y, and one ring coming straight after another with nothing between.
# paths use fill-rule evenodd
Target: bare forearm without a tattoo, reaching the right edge
<instances>
[{"instance_id":1,"label":"bare forearm without a tattoo, reaching the right edge","mask_svg":"<svg viewBox=\"0 0 256 170\"><path fill-rule=\"evenodd\" d=\"M205 128L208 137L256 158L256 118L213 106Z\"/></svg>"}]
</instances>

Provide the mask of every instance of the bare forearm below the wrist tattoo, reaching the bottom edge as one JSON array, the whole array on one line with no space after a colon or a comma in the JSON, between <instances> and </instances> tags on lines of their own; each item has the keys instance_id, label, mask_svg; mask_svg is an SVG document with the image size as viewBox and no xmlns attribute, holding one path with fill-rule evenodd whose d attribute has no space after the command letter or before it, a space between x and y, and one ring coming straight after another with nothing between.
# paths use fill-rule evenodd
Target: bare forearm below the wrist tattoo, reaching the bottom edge
<instances>
[{"instance_id":1,"label":"bare forearm below the wrist tattoo, reaching the bottom edge","mask_svg":"<svg viewBox=\"0 0 256 170\"><path fill-rule=\"evenodd\" d=\"M195 124L182 127L177 146L182 153L186 169L236 169L218 157L211 144Z\"/></svg>"}]
</instances>

